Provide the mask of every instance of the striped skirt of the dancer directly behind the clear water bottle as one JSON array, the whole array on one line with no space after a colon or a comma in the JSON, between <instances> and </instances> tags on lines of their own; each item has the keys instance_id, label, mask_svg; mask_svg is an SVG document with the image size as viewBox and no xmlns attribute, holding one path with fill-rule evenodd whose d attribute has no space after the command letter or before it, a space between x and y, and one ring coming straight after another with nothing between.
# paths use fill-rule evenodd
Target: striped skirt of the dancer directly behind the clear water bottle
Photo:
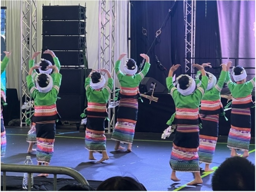
<instances>
[{"instance_id":1,"label":"striped skirt of the dancer directly behind the clear water bottle","mask_svg":"<svg viewBox=\"0 0 256 192\"><path fill-rule=\"evenodd\" d=\"M55 123L36 123L37 162L50 163L53 155L55 138Z\"/></svg>"}]
</instances>

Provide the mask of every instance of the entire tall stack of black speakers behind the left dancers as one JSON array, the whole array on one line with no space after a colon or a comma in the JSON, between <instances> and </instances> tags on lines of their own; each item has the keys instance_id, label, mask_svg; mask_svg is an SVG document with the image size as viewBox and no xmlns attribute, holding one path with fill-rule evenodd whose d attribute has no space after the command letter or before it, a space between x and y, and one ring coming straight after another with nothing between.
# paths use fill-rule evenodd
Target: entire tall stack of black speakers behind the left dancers
<instances>
[{"instance_id":1,"label":"entire tall stack of black speakers behind the left dancers","mask_svg":"<svg viewBox=\"0 0 256 192\"><path fill-rule=\"evenodd\" d=\"M42 58L53 62L52 50L61 64L57 110L61 120L80 122L85 108L85 74L88 70L85 11L83 6L43 6ZM78 126L79 127L79 126Z\"/></svg>"}]
</instances>

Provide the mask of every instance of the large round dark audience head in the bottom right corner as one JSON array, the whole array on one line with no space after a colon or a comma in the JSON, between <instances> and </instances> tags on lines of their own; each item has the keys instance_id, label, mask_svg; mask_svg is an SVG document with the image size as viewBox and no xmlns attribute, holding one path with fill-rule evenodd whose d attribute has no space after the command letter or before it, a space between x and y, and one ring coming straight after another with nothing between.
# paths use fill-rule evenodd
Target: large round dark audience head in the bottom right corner
<instances>
[{"instance_id":1,"label":"large round dark audience head in the bottom right corner","mask_svg":"<svg viewBox=\"0 0 256 192\"><path fill-rule=\"evenodd\" d=\"M255 191L255 165L244 157L226 159L211 179L213 191Z\"/></svg>"}]
</instances>

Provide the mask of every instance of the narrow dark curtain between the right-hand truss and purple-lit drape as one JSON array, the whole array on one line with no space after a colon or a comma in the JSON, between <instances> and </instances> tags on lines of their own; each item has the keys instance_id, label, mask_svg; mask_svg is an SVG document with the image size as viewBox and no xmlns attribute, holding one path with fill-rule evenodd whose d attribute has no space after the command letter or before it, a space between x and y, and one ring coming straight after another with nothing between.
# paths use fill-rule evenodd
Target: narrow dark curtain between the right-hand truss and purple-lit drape
<instances>
[{"instance_id":1,"label":"narrow dark curtain between the right-hand truss and purple-lit drape","mask_svg":"<svg viewBox=\"0 0 256 192\"><path fill-rule=\"evenodd\" d=\"M195 31L195 57L221 57L221 43L219 34L219 19L217 1L197 1ZM217 79L221 72L220 59L195 59L195 63L211 63L213 68L206 68Z\"/></svg>"}]
</instances>

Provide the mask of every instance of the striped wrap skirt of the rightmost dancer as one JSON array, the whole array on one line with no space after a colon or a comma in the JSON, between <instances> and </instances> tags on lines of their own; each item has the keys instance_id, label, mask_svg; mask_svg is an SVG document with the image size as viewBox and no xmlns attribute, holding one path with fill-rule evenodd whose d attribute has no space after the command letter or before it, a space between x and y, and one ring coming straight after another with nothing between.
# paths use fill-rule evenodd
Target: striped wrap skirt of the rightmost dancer
<instances>
[{"instance_id":1,"label":"striped wrap skirt of the rightmost dancer","mask_svg":"<svg viewBox=\"0 0 256 192\"><path fill-rule=\"evenodd\" d=\"M231 129L228 134L228 148L248 151L250 145L250 108L232 108Z\"/></svg>"}]
</instances>

